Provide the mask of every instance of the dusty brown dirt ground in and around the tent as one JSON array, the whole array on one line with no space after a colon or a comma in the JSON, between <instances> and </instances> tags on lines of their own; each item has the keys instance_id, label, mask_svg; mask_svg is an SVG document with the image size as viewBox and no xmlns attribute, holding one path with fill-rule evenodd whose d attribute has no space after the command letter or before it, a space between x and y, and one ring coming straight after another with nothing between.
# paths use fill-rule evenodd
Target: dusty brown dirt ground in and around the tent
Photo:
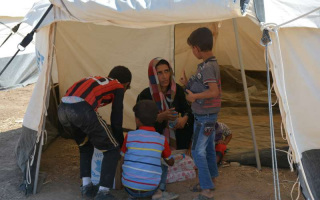
<instances>
[{"instance_id":1,"label":"dusty brown dirt ground in and around the tent","mask_svg":"<svg viewBox=\"0 0 320 200\"><path fill-rule=\"evenodd\" d=\"M0 91L0 199L26 199L18 190L22 173L16 165L14 149L21 134L22 119L34 85L24 88ZM253 108L253 120L259 149L270 147L269 117L266 108ZM233 132L228 154L252 151L253 145L246 108L224 108L219 116ZM276 143L286 146L280 135L281 118L274 116ZM227 155L228 155L227 154ZM227 156L226 156L227 159ZM27 199L81 199L79 179L78 149L72 140L57 138L43 152L41 171L47 179L40 193ZM219 167L215 199L217 200L270 200L274 199L273 173L271 168L263 167L258 171L252 166ZM296 172L279 169L281 199L291 199L290 192L296 181ZM189 200L197 193L189 191L196 179L168 184L167 189L180 194L179 199ZM113 191L119 199L126 199L124 190ZM297 188L293 190L294 199ZM300 197L299 199L303 199Z\"/></svg>"}]
</instances>

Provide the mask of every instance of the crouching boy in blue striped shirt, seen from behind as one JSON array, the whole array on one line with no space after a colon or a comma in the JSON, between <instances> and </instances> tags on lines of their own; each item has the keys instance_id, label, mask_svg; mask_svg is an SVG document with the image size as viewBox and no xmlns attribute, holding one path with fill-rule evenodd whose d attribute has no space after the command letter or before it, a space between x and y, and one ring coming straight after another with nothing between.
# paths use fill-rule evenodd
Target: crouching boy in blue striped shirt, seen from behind
<instances>
[{"instance_id":1,"label":"crouching boy in blue striped shirt, seen from behind","mask_svg":"<svg viewBox=\"0 0 320 200\"><path fill-rule=\"evenodd\" d=\"M156 132L154 123L158 108L151 100L139 101L133 108L138 130L130 131L121 149L122 183L129 199L152 196L152 199L176 199L179 195L165 192L168 167L172 166L168 141Z\"/></svg>"}]
</instances>

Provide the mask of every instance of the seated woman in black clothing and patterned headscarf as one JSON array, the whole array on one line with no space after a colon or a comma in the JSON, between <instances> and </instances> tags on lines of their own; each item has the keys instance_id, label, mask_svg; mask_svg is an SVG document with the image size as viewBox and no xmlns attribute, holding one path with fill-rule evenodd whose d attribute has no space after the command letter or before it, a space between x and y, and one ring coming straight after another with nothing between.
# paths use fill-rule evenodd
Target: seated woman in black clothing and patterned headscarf
<instances>
[{"instance_id":1,"label":"seated woman in black clothing and patterned headscarf","mask_svg":"<svg viewBox=\"0 0 320 200\"><path fill-rule=\"evenodd\" d=\"M168 121L177 119L171 129L175 131L176 147L188 149L193 133L193 114L183 88L174 80L169 62L159 57L152 59L149 63L148 76L149 87L138 95L137 102L149 99L157 104L159 114L155 128L168 141L170 136Z\"/></svg>"}]
</instances>

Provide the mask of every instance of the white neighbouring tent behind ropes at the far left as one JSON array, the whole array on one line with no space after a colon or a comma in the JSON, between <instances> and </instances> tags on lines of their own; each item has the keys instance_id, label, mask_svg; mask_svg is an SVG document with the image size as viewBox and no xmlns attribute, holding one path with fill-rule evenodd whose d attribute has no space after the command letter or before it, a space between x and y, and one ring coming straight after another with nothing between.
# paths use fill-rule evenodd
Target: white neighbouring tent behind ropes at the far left
<instances>
[{"instance_id":1,"label":"white neighbouring tent behind ropes at the far left","mask_svg":"<svg viewBox=\"0 0 320 200\"><path fill-rule=\"evenodd\" d=\"M10 0L0 7L0 72L18 50L17 46L32 27L22 23L16 33L12 28L23 21L35 0ZM9 37L9 35L11 36ZM8 38L8 39L7 39ZM7 39L7 40L6 40ZM37 81L39 68L36 62L35 43L21 51L0 75L0 90L25 86Z\"/></svg>"}]
</instances>

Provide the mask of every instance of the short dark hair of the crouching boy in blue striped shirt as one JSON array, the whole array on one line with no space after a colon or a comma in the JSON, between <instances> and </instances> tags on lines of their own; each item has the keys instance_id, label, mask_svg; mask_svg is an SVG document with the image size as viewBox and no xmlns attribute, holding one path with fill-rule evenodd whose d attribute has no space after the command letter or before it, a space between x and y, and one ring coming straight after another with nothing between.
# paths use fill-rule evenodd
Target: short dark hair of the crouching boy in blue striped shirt
<instances>
[{"instance_id":1,"label":"short dark hair of the crouching boy in blue striped shirt","mask_svg":"<svg viewBox=\"0 0 320 200\"><path fill-rule=\"evenodd\" d=\"M152 100L141 100L133 107L134 116L140 120L144 126L154 126L158 107Z\"/></svg>"}]
</instances>

